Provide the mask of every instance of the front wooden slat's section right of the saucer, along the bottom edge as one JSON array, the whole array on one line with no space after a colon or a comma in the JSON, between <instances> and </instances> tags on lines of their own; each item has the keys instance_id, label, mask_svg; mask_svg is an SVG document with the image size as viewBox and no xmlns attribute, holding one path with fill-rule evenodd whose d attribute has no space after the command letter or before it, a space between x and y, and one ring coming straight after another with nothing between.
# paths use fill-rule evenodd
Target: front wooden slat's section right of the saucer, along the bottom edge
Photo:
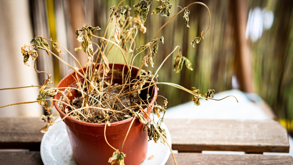
<instances>
[{"instance_id":1,"label":"front wooden slat's section right of the saucer, along the bottom edge","mask_svg":"<svg viewBox=\"0 0 293 165\"><path fill-rule=\"evenodd\" d=\"M180 165L204 165L204 164L243 164L243 165L279 165L293 164L292 156L272 156L260 154L245 154L245 155L214 155L200 153L177 153L175 159ZM174 165L172 156L170 155L165 165Z\"/></svg>"}]
</instances>

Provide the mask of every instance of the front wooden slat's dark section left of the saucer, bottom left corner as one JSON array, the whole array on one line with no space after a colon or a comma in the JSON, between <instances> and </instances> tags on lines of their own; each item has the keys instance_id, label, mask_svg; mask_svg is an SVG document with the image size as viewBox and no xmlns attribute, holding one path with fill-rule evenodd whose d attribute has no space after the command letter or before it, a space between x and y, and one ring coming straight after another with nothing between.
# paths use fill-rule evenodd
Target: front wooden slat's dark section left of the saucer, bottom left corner
<instances>
[{"instance_id":1,"label":"front wooden slat's dark section left of the saucer, bottom left corner","mask_svg":"<svg viewBox=\"0 0 293 165\"><path fill-rule=\"evenodd\" d=\"M42 165L39 151L0 151L0 164L5 165Z\"/></svg>"}]
</instances>

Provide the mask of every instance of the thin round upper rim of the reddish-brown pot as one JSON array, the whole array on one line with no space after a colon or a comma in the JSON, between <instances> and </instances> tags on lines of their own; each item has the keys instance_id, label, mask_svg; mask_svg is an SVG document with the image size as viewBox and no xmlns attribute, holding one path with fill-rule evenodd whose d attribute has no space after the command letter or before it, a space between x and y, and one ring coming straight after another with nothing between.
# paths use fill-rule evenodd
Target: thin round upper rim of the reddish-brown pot
<instances>
[{"instance_id":1,"label":"thin round upper rim of the reddish-brown pot","mask_svg":"<svg viewBox=\"0 0 293 165\"><path fill-rule=\"evenodd\" d=\"M109 64L115 64L115 65L126 65L126 64L122 64L122 63L109 63ZM99 65L99 64L97 64ZM130 66L130 65L129 65ZM139 69L138 67L136 66L132 66L132 68L136 68L136 69ZM74 73L74 72L71 72L71 73ZM60 85L60 83L67 79L69 76L71 76L71 73L69 73L68 75L66 75L62 80L60 80L60 82L56 85L56 88L58 88L58 86ZM154 80L152 80L154 81ZM60 94L60 93L59 93ZM157 89L157 85L154 84L154 96L152 98L152 101L150 102L151 105L154 105L156 99L157 99L157 95L158 95L158 89ZM53 98L55 99L56 95L53 96ZM61 119L66 116L66 114L64 113L64 111L62 111L58 105L57 105L57 101L53 101L54 102L54 106L56 108L56 110L58 111L58 113L60 114L61 116ZM144 111L150 111L151 106L147 106ZM128 119L124 119L124 120L121 120L121 121L118 121L118 122L112 122L110 126L108 127L111 127L111 126L116 126L116 125L119 125L119 124L124 124L124 123L127 123L127 122L130 122L134 117L130 117ZM86 125L86 126L92 126L92 127L105 127L105 123L89 123L89 122L83 122L83 121L80 121L80 120L77 120L77 119L74 119L70 116L67 116L65 119L68 119L70 120L71 122L75 122L75 123L78 123L78 124L82 124L82 125ZM64 119L64 120L65 120Z\"/></svg>"}]
</instances>

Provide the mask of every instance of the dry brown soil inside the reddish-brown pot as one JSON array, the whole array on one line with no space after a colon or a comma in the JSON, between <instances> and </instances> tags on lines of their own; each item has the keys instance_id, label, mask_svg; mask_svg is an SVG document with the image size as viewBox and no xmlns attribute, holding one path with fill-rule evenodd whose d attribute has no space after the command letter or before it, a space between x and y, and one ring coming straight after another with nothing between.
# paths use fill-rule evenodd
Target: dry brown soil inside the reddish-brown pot
<instances>
[{"instance_id":1,"label":"dry brown soil inside the reddish-brown pot","mask_svg":"<svg viewBox=\"0 0 293 165\"><path fill-rule=\"evenodd\" d=\"M103 108L109 109L109 111L95 109L95 108L83 109L80 111L80 113L72 113L72 115L70 116L74 119L79 119L84 122L91 122L91 123L105 123L106 121L118 122L123 119L126 119L127 117L125 118L125 115L129 115L128 118L131 117L132 113L129 111L129 109L126 109L125 107L132 106L135 103L141 104L144 101L142 101L139 98L139 94L137 91L131 92L131 97L129 97L128 86L124 87L123 90L121 85L119 85L118 88L117 86L118 84L113 84L110 87L107 87L108 89L112 89L112 90L108 90L107 92L104 92L102 94L105 100L107 100L108 104L111 106L111 108L105 103L104 99L100 98L99 94L93 95L95 96L97 100L101 100L102 104L104 105ZM72 105L76 109L82 107L83 102L84 102L84 97L82 97L81 95L79 97L75 97L74 99L72 99ZM95 107L100 107L101 105L97 101L90 101L89 104L90 106L95 106ZM62 106L59 106L59 108L63 109ZM142 107L142 108L145 108L145 107ZM110 111L110 109L121 111L121 113ZM139 111L139 108L138 107L135 109L132 108L131 110ZM65 110L66 114L69 112L70 110L68 109ZM84 117L86 117L87 119L84 119Z\"/></svg>"}]
</instances>

